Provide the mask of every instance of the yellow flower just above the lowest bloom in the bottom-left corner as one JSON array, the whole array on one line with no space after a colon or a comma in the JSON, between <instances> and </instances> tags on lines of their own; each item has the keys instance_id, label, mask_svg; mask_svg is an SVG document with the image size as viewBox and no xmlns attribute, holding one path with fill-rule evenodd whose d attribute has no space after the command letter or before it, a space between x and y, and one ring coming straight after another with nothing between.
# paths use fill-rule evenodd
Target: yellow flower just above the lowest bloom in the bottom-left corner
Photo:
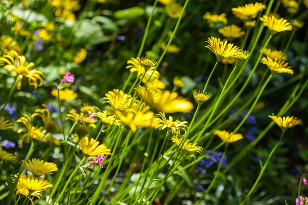
<instances>
[{"instance_id":1,"label":"yellow flower just above the lowest bloom in the bottom-left corner","mask_svg":"<svg viewBox=\"0 0 308 205\"><path fill-rule=\"evenodd\" d=\"M51 172L58 171L54 163L47 161L44 162L43 160L40 161L35 158L28 160L28 162L26 163L26 168L36 177L43 176L45 174L52 174Z\"/></svg>"}]
</instances>

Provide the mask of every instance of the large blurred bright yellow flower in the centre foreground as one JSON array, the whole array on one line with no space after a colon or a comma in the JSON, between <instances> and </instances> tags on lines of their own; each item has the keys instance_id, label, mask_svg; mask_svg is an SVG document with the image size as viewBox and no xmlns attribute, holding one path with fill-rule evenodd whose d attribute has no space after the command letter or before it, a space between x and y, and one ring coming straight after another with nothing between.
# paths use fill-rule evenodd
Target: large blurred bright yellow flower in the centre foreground
<instances>
[{"instance_id":1,"label":"large blurred bright yellow flower in the centre foreground","mask_svg":"<svg viewBox=\"0 0 308 205\"><path fill-rule=\"evenodd\" d=\"M189 112L194 106L185 98L179 97L178 93L164 91L157 93L144 87L138 88L138 93L145 103L152 109L165 113Z\"/></svg>"}]
</instances>

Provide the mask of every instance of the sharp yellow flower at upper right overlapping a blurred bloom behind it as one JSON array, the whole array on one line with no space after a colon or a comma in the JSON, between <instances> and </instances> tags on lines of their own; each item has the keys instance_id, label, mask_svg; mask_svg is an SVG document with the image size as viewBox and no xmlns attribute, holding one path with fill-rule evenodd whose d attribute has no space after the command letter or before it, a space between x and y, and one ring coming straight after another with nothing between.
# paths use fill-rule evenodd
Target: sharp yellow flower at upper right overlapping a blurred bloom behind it
<instances>
[{"instance_id":1,"label":"sharp yellow flower at upper right overlapping a blurred bloom behind it","mask_svg":"<svg viewBox=\"0 0 308 205\"><path fill-rule=\"evenodd\" d=\"M273 60L272 58L269 58L269 57L267 58L262 57L261 63L265 64L271 70L272 74L289 73L293 75L294 73L294 71L290 69L292 67L288 66L288 63L282 60L278 60L277 58Z\"/></svg>"}]
</instances>

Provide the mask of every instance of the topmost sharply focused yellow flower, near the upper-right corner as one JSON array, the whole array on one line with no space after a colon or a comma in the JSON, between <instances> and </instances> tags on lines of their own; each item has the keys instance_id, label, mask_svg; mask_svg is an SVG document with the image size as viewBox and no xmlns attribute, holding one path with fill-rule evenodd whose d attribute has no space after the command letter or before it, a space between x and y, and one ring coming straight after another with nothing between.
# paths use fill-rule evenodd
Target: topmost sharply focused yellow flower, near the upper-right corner
<instances>
[{"instance_id":1,"label":"topmost sharply focused yellow flower, near the upper-right corner","mask_svg":"<svg viewBox=\"0 0 308 205\"><path fill-rule=\"evenodd\" d=\"M287 22L286 19L280 18L277 19L274 16L262 16L260 17L260 20L264 22L264 26L267 26L267 28L271 31L271 35L275 35L278 32L281 31L292 31L292 25Z\"/></svg>"}]
</instances>

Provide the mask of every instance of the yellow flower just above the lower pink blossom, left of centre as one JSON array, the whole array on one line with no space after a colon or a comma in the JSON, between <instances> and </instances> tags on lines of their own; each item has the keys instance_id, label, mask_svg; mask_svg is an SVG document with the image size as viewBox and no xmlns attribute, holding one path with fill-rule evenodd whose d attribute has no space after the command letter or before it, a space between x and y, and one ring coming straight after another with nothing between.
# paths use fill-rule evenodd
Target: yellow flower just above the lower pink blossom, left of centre
<instances>
[{"instance_id":1,"label":"yellow flower just above the lower pink blossom, left of centre","mask_svg":"<svg viewBox=\"0 0 308 205\"><path fill-rule=\"evenodd\" d=\"M78 142L78 145L81 151L88 156L98 156L102 154L111 154L111 150L108 149L105 145L99 145L100 142L96 141L95 139L91 138L89 141L88 137L83 137Z\"/></svg>"}]
</instances>

